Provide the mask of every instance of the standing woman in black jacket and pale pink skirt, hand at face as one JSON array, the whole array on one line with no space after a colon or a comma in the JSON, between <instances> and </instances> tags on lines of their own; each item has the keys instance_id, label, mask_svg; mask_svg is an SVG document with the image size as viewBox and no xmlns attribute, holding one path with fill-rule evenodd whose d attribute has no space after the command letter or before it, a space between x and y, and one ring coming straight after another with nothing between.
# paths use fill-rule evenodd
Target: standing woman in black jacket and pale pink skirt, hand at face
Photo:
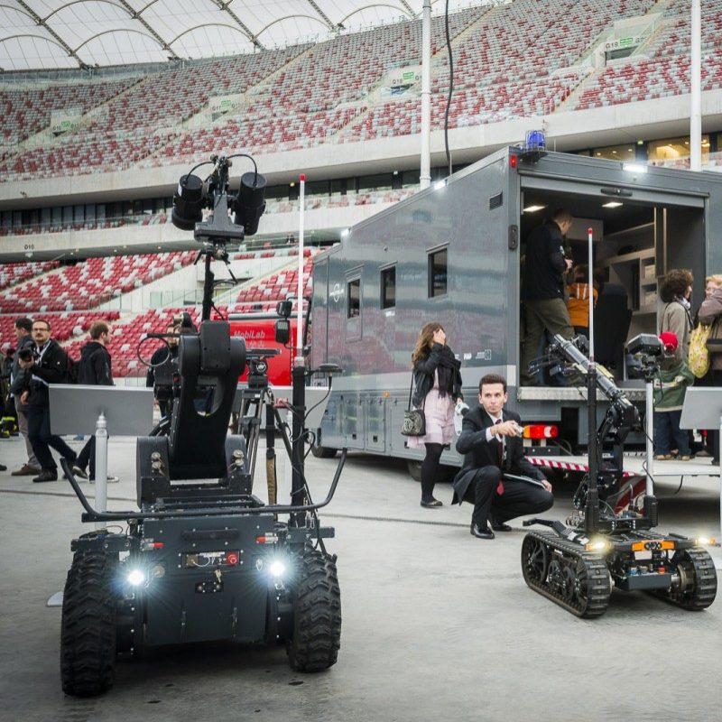
<instances>
[{"instance_id":1,"label":"standing woman in black jacket and pale pink skirt, hand at face","mask_svg":"<svg viewBox=\"0 0 722 722\"><path fill-rule=\"evenodd\" d=\"M426 449L421 464L421 506L441 506L435 499L434 485L444 445L456 439L454 405L461 399L461 363L446 345L441 324L424 325L412 353L415 390L412 403L422 408L426 417L426 434L409 437L409 449Z\"/></svg>"}]
</instances>

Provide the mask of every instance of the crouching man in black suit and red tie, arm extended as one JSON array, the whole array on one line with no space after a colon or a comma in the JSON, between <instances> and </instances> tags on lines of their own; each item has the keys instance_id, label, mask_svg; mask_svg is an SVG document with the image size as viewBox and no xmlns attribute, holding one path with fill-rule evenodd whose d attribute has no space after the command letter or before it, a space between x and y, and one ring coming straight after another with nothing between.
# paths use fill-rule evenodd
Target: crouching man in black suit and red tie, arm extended
<instances>
[{"instance_id":1,"label":"crouching man in black suit and red tie, arm extended","mask_svg":"<svg viewBox=\"0 0 722 722\"><path fill-rule=\"evenodd\" d=\"M487 374L479 383L479 404L464 417L457 451L464 466L454 479L452 504L474 504L471 533L494 539L494 532L510 532L506 523L516 516L540 514L554 503L551 484L523 455L519 416L504 410L509 398L504 376ZM504 474L529 477L528 481Z\"/></svg>"}]
</instances>

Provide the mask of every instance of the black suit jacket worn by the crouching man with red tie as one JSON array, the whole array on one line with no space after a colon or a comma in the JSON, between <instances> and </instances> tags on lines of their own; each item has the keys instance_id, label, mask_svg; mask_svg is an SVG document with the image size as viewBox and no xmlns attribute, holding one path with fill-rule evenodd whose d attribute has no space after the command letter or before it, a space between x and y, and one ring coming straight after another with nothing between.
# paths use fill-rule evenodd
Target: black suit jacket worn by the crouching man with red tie
<instances>
[{"instance_id":1,"label":"black suit jacket worn by the crouching man with red tie","mask_svg":"<svg viewBox=\"0 0 722 722\"><path fill-rule=\"evenodd\" d=\"M502 412L502 421L516 421L520 423L521 419L517 413L508 412L505 409ZM457 440L457 451L464 454L464 466L461 467L456 478L454 479L454 498L452 504L460 504L467 494L467 490L474 481L477 469L482 467L499 467L499 442L495 439L486 440L486 429L488 429L494 421L491 416L484 411L482 406L478 406L474 411L470 411L464 417L461 426L461 435ZM531 461L524 457L522 437L507 436L504 438L506 443L506 455L502 465L502 471L510 474L523 474L527 477L542 480L544 475L535 467ZM473 501L473 499L469 499Z\"/></svg>"}]
</instances>

